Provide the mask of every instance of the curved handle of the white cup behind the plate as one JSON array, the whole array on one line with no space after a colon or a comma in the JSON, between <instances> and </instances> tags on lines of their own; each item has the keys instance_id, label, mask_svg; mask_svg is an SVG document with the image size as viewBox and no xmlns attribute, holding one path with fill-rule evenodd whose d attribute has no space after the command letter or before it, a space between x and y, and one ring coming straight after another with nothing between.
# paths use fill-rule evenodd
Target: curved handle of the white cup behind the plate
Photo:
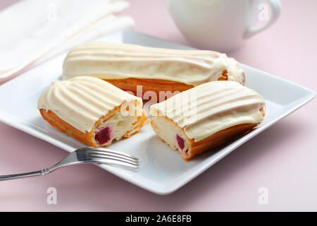
<instances>
[{"instance_id":1,"label":"curved handle of the white cup behind the plate","mask_svg":"<svg viewBox=\"0 0 317 226\"><path fill-rule=\"evenodd\" d=\"M264 30L268 28L269 26L273 25L276 20L278 20L278 17L280 16L280 0L267 0L268 4L270 4L272 13L271 13L271 18L268 19L268 22L264 25L262 25L259 28L248 28L247 31L244 34L244 38L249 38L256 33L260 32L261 30Z\"/></svg>"}]
</instances>

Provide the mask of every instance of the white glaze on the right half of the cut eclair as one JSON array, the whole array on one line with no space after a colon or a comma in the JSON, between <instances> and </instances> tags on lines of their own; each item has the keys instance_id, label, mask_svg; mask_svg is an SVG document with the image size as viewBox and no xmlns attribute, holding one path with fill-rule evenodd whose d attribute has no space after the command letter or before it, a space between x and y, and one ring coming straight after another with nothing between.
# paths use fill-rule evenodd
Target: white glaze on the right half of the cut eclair
<instances>
[{"instance_id":1,"label":"white glaze on the right half of the cut eclair","mask_svg":"<svg viewBox=\"0 0 317 226\"><path fill-rule=\"evenodd\" d=\"M172 119L194 141L239 124L259 124L266 103L256 91L233 81L214 81L152 105L153 116Z\"/></svg>"}]
</instances>

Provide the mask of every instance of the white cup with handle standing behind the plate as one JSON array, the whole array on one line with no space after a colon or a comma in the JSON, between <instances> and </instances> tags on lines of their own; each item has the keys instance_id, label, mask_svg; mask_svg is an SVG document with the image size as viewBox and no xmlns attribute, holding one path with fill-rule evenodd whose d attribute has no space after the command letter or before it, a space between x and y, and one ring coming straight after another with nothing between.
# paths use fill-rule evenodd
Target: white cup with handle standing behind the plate
<instances>
[{"instance_id":1,"label":"white cup with handle standing behind the plate","mask_svg":"<svg viewBox=\"0 0 317 226\"><path fill-rule=\"evenodd\" d=\"M189 42L218 52L241 47L280 16L280 0L166 0L166 4ZM263 24L256 27L258 19Z\"/></svg>"}]
</instances>

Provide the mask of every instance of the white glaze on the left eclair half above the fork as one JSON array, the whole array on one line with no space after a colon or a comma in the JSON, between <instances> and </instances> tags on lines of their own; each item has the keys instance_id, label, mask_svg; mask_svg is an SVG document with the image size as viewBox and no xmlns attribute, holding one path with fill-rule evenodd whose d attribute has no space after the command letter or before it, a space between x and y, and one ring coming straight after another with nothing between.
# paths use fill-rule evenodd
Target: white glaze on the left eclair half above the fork
<instances>
[{"instance_id":1,"label":"white glaze on the left eclair half above the fork","mask_svg":"<svg viewBox=\"0 0 317 226\"><path fill-rule=\"evenodd\" d=\"M127 101L142 99L130 95L99 78L80 76L54 81L39 97L37 108L51 110L79 131L90 132L99 118Z\"/></svg>"}]
</instances>

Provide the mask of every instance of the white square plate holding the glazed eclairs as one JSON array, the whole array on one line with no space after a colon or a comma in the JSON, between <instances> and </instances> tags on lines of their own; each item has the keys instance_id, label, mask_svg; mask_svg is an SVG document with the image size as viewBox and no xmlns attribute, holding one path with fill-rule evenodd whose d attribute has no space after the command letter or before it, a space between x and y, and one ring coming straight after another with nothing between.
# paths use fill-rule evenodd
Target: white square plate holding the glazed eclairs
<instances>
[{"instance_id":1,"label":"white square plate holding the glazed eclairs","mask_svg":"<svg viewBox=\"0 0 317 226\"><path fill-rule=\"evenodd\" d=\"M191 49L189 47L144 35L132 30L116 32L99 40L142 44L151 47ZM0 120L4 123L41 138L69 152L85 146L74 138L49 125L39 114L37 99L42 91L56 79L61 79L62 63L66 54L46 61L35 69L0 86ZM285 81L263 71L242 65L247 75L247 86L263 95L266 100L266 117L258 128L228 145L184 162L179 153L171 150L156 136L148 124L131 138L113 143L111 149L139 157L140 169L130 172L101 165L132 184L156 194L170 194L197 177L235 148L261 133L287 114L313 99L315 93L295 83ZM10 95L7 95L10 93Z\"/></svg>"}]
</instances>

